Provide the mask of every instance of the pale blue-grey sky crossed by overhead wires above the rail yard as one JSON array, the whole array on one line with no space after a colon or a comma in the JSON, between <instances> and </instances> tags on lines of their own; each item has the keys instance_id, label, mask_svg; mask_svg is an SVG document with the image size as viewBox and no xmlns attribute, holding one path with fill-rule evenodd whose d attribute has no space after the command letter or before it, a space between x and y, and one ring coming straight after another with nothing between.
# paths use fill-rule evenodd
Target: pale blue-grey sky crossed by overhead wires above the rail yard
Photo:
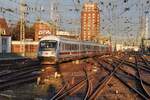
<instances>
[{"instance_id":1,"label":"pale blue-grey sky crossed by overhead wires above the rail yard","mask_svg":"<svg viewBox=\"0 0 150 100\"><path fill-rule=\"evenodd\" d=\"M37 18L52 22L57 19L57 25L61 29L80 32L80 13L83 3L88 0L24 1L27 4L25 20L29 25L32 25ZM137 37L141 30L141 17L150 18L150 0L90 1L97 2L100 8L101 34L111 35L116 40ZM20 0L0 0L0 16L5 17L9 25L15 25L19 20L19 4Z\"/></svg>"}]
</instances>

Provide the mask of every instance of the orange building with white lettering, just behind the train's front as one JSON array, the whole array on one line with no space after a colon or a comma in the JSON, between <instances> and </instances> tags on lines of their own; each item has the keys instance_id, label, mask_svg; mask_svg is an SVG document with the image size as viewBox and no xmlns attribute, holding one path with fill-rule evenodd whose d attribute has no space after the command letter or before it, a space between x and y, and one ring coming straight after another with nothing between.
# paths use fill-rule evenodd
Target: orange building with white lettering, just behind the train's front
<instances>
[{"instance_id":1,"label":"orange building with white lettering, just behind the train's front","mask_svg":"<svg viewBox=\"0 0 150 100\"><path fill-rule=\"evenodd\" d=\"M51 23L37 21L34 24L34 29L35 29L35 38L34 38L35 41L38 41L43 36L56 35L56 26Z\"/></svg>"}]
</instances>

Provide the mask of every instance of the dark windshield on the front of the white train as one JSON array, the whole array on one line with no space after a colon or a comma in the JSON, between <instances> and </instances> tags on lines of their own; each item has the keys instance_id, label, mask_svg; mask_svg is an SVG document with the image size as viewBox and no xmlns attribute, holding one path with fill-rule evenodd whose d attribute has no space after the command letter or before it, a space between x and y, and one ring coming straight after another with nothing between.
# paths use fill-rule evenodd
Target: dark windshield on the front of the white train
<instances>
[{"instance_id":1,"label":"dark windshield on the front of the white train","mask_svg":"<svg viewBox=\"0 0 150 100\"><path fill-rule=\"evenodd\" d=\"M57 41L43 40L40 42L40 50L55 50L57 48Z\"/></svg>"}]
</instances>

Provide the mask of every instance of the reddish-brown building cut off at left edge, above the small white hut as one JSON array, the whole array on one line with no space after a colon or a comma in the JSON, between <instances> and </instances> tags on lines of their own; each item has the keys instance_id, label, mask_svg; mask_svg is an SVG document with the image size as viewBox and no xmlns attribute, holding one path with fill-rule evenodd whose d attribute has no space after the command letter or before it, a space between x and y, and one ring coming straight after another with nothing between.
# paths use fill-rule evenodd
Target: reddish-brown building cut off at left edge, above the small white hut
<instances>
[{"instance_id":1,"label":"reddish-brown building cut off at left edge, above the small white hut","mask_svg":"<svg viewBox=\"0 0 150 100\"><path fill-rule=\"evenodd\" d=\"M0 35L6 35L8 33L8 25L5 18L0 18Z\"/></svg>"}]
</instances>

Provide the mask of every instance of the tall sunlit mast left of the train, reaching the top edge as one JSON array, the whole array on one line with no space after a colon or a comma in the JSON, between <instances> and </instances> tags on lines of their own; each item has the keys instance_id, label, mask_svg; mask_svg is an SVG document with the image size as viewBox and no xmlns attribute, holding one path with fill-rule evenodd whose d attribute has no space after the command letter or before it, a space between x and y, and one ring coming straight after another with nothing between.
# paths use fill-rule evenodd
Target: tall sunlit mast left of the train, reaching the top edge
<instances>
[{"instance_id":1,"label":"tall sunlit mast left of the train, reaching the top edge","mask_svg":"<svg viewBox=\"0 0 150 100\"><path fill-rule=\"evenodd\" d=\"M20 52L25 56L25 0L20 0Z\"/></svg>"}]
</instances>

